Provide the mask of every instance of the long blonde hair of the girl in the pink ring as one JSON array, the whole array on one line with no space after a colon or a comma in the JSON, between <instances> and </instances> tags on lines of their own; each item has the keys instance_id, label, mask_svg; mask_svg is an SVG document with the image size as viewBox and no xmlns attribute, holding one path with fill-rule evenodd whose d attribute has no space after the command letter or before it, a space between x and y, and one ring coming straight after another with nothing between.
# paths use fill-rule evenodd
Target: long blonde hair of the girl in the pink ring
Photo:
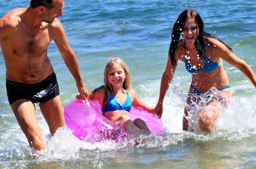
<instances>
[{"instance_id":1,"label":"long blonde hair of the girl in the pink ring","mask_svg":"<svg viewBox=\"0 0 256 169\"><path fill-rule=\"evenodd\" d=\"M110 95L110 92L113 89L112 85L108 81L108 72L114 64L118 64L119 66L121 66L124 69L124 73L126 74L126 78L124 79L124 83L123 83L123 88L127 89L127 90L129 90L131 88L131 77L130 77L130 73L129 73L129 68L124 63L124 61L119 58L113 58L110 61L108 61L108 63L106 64L106 66L104 68L104 85L102 85L101 87L99 87L97 89L94 89L94 91L93 91L93 94L94 94L98 89L105 89L105 97L104 97L104 100L102 103L103 110L104 110L103 115L105 113L105 108L106 108L106 104L108 101L108 97Z\"/></svg>"}]
</instances>

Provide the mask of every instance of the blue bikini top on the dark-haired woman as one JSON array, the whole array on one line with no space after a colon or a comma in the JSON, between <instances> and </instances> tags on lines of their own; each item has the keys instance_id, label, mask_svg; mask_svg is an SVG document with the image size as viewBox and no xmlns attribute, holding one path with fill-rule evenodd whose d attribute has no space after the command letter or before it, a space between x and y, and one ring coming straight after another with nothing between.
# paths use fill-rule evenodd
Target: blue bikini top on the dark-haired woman
<instances>
[{"instance_id":1,"label":"blue bikini top on the dark-haired woman","mask_svg":"<svg viewBox=\"0 0 256 169\"><path fill-rule=\"evenodd\" d=\"M186 55L185 47L184 47L184 51L185 51L185 55ZM204 63L203 69L200 69L200 70L193 69L193 67L191 67L190 63L188 63L187 58L185 58L185 67L186 67L187 71L190 72L190 73L198 73L200 71L202 71L202 72L212 72L215 69L217 69L217 67L219 66L221 61L219 63L214 63L214 62L209 60L209 58L206 56L205 52L204 52L204 55L205 55L205 60L206 61Z\"/></svg>"}]
</instances>

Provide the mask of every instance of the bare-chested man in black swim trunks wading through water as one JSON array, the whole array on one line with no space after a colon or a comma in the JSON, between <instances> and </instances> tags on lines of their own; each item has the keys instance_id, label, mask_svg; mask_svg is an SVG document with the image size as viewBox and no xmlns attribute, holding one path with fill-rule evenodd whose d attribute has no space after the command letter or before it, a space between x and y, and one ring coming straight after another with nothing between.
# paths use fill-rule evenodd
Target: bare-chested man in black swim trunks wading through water
<instances>
[{"instance_id":1,"label":"bare-chested man in black swim trunks wading through water","mask_svg":"<svg viewBox=\"0 0 256 169\"><path fill-rule=\"evenodd\" d=\"M52 40L83 100L88 98L77 59L57 19L62 16L63 6L64 0L31 0L28 8L14 9L0 19L8 100L30 147L37 150L44 149L45 143L34 103L39 103L51 134L65 125L56 75L47 55Z\"/></svg>"}]
</instances>

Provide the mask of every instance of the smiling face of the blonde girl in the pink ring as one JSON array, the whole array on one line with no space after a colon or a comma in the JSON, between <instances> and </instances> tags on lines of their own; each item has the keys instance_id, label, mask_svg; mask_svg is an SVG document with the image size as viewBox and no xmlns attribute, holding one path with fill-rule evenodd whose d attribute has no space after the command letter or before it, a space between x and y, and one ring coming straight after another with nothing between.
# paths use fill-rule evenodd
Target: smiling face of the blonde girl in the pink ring
<instances>
[{"instance_id":1,"label":"smiling face of the blonde girl in the pink ring","mask_svg":"<svg viewBox=\"0 0 256 169\"><path fill-rule=\"evenodd\" d=\"M120 87L123 86L127 73L124 72L124 69L119 64L114 63L107 75L108 81L113 87Z\"/></svg>"}]
</instances>

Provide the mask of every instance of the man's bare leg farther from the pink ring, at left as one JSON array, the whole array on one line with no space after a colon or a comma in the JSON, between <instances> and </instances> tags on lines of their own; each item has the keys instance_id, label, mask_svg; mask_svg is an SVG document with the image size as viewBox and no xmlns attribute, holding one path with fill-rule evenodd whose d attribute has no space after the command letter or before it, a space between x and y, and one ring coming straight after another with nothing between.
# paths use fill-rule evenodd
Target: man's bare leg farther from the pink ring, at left
<instances>
[{"instance_id":1,"label":"man's bare leg farther from the pink ring, at left","mask_svg":"<svg viewBox=\"0 0 256 169\"><path fill-rule=\"evenodd\" d=\"M30 147L34 147L36 150L44 149L45 143L36 118L34 103L29 100L21 99L12 103L11 108L13 109L20 128L28 139Z\"/></svg>"}]
</instances>

